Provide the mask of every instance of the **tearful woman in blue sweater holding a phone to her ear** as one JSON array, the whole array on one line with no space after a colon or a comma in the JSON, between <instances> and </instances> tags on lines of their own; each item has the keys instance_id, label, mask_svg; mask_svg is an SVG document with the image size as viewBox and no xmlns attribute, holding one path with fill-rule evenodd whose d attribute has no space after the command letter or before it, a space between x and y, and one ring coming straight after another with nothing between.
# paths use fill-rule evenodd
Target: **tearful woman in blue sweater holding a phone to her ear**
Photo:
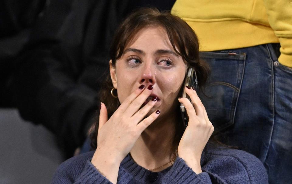
<instances>
[{"instance_id":1,"label":"tearful woman in blue sweater holding a phone to her ear","mask_svg":"<svg viewBox=\"0 0 292 184\"><path fill-rule=\"evenodd\" d=\"M209 69L182 19L134 11L118 28L110 58L94 151L62 163L53 183L267 183L257 158L216 143L195 86L185 85L189 68L200 88Z\"/></svg>"}]
</instances>

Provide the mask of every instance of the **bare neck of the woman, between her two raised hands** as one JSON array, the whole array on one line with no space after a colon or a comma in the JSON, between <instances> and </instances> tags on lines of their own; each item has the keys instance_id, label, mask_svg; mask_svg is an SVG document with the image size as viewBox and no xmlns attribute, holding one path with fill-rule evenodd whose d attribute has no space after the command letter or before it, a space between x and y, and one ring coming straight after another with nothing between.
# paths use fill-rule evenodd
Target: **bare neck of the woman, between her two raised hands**
<instances>
[{"instance_id":1,"label":"bare neck of the woman, between her two raised hands","mask_svg":"<svg viewBox=\"0 0 292 184\"><path fill-rule=\"evenodd\" d=\"M153 169L170 161L176 122L176 116L168 118L167 121L161 117L142 132L130 151L138 165L146 169ZM164 170L170 165L167 164L159 170Z\"/></svg>"}]
</instances>

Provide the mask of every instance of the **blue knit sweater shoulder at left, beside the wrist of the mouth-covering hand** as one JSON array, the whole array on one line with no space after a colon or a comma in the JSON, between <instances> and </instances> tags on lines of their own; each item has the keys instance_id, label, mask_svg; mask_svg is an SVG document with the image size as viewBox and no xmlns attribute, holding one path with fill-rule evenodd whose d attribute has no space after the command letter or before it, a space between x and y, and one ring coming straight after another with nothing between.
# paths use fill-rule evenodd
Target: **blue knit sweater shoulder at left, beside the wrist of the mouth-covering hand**
<instances>
[{"instance_id":1,"label":"blue knit sweater shoulder at left, beside the wrist of the mouth-covering hand","mask_svg":"<svg viewBox=\"0 0 292 184\"><path fill-rule=\"evenodd\" d=\"M74 181L84 169L86 162L92 159L94 151L77 155L64 161L56 170L53 181Z\"/></svg>"}]
</instances>

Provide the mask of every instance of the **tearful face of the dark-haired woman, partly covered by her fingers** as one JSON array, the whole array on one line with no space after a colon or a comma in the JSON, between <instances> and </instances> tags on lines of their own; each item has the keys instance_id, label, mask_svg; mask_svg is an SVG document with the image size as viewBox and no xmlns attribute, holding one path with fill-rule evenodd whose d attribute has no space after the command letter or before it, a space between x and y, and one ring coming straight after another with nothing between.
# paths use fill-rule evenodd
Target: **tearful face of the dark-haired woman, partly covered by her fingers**
<instances>
[{"instance_id":1,"label":"tearful face of the dark-haired woman, partly covered by her fingers","mask_svg":"<svg viewBox=\"0 0 292 184\"><path fill-rule=\"evenodd\" d=\"M156 96L158 102L148 115L159 109L160 117L173 114L177 108L185 72L185 62L173 49L166 31L159 26L140 30L127 44L115 67L111 67L110 61L110 74L120 103L141 84L146 88L153 85L149 99Z\"/></svg>"}]
</instances>

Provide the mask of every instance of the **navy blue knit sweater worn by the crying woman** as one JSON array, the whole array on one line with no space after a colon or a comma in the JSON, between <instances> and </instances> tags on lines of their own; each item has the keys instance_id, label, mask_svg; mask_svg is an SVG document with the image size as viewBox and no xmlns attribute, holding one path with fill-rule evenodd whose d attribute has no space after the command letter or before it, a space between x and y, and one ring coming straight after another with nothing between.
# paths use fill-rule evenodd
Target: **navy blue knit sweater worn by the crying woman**
<instances>
[{"instance_id":1,"label":"navy blue knit sweater worn by the crying woman","mask_svg":"<svg viewBox=\"0 0 292 184\"><path fill-rule=\"evenodd\" d=\"M53 182L111 183L91 164L94 151L75 156L57 169ZM151 172L128 154L120 164L117 183L268 183L266 170L258 158L235 149L209 149L202 154L202 173L196 174L182 158L161 172Z\"/></svg>"}]
</instances>

